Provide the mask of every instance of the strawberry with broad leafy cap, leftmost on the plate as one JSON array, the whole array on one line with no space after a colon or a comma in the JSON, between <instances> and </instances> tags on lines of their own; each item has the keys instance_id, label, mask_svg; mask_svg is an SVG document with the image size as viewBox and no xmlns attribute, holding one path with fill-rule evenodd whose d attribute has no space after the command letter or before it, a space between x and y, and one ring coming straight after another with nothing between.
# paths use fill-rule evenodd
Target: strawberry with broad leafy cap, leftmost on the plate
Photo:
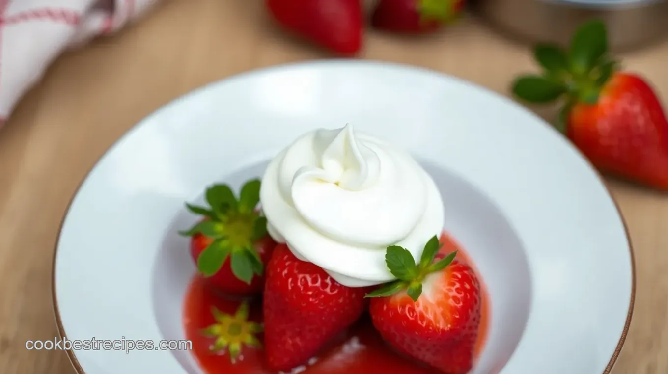
<instances>
[{"instance_id":1,"label":"strawberry with broad leafy cap, leftmost on the plate","mask_svg":"<svg viewBox=\"0 0 668 374\"><path fill-rule=\"evenodd\" d=\"M186 204L204 218L190 230L190 254L198 270L223 293L250 296L261 293L264 267L276 246L267 234L267 218L256 209L260 180L246 182L237 200L232 189L215 184L206 190L209 207Z\"/></svg>"}]
</instances>

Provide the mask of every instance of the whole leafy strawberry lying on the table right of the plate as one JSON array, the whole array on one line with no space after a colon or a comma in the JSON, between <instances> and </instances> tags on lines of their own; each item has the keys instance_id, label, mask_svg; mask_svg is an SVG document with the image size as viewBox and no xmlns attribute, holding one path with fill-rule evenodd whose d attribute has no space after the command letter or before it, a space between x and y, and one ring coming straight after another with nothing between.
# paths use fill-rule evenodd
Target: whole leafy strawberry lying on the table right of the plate
<instances>
[{"instance_id":1,"label":"whole leafy strawberry lying on the table right of the plate","mask_svg":"<svg viewBox=\"0 0 668 374\"><path fill-rule=\"evenodd\" d=\"M622 71L607 54L601 21L574 34L570 51L538 45L542 75L514 81L514 95L526 102L562 99L558 130L601 172L668 190L668 123L650 85Z\"/></svg>"}]
</instances>

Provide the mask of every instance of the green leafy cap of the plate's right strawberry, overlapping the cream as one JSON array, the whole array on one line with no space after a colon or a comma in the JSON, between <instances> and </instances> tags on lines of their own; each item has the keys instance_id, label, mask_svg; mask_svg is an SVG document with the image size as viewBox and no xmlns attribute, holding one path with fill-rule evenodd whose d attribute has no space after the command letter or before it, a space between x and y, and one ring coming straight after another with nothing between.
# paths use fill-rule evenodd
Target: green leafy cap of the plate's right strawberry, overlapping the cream
<instances>
[{"instance_id":1,"label":"green leafy cap of the plate's right strawberry, overlapping the cream","mask_svg":"<svg viewBox=\"0 0 668 374\"><path fill-rule=\"evenodd\" d=\"M424 246L420 262L415 262L413 255L409 250L401 246L388 246L385 252L385 264L389 272L397 277L397 280L385 283L375 289L365 297L389 297L406 290L408 296L413 301L418 301L422 295L422 283L428 274L438 272L446 268L457 255L457 251L451 252L448 256L434 262L441 244L438 242L438 236L433 236Z\"/></svg>"}]
</instances>

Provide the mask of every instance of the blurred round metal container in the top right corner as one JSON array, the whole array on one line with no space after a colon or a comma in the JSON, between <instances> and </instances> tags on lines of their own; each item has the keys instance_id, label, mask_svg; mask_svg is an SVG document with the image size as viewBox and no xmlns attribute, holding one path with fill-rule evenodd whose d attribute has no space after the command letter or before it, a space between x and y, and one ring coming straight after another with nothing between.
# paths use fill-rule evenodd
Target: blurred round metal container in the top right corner
<instances>
[{"instance_id":1,"label":"blurred round metal container in the top right corner","mask_svg":"<svg viewBox=\"0 0 668 374\"><path fill-rule=\"evenodd\" d=\"M502 31L566 45L581 23L603 19L611 49L635 49L668 35L666 0L477 0L474 8Z\"/></svg>"}]
</instances>

